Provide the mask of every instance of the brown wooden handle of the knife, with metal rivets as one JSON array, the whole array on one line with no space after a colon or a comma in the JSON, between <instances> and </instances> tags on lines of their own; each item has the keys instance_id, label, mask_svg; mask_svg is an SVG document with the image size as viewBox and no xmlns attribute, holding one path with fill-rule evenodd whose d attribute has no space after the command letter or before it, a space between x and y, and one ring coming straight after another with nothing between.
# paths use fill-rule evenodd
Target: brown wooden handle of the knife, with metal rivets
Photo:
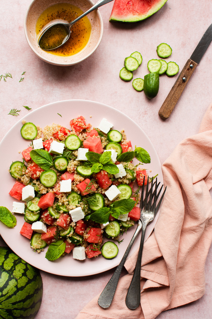
<instances>
[{"instance_id":1,"label":"brown wooden handle of the knife, with metal rivets","mask_svg":"<svg viewBox=\"0 0 212 319\"><path fill-rule=\"evenodd\" d=\"M169 115L172 113L177 101L179 100L179 97L182 94L182 91L188 83L188 80L194 72L196 66L196 62L192 61L191 59L188 59L179 77L177 78L176 82L171 88L171 91L168 93L166 100L163 102L163 105L161 106L158 112L161 119L167 119Z\"/></svg>"}]
</instances>

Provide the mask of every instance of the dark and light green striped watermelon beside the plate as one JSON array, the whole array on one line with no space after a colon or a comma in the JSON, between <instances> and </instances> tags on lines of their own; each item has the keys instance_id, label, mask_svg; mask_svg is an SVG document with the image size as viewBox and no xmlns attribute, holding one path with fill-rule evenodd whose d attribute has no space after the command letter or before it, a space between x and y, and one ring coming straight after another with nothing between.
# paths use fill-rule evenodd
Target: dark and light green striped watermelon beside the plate
<instances>
[{"instance_id":1,"label":"dark and light green striped watermelon beside the plate","mask_svg":"<svg viewBox=\"0 0 212 319\"><path fill-rule=\"evenodd\" d=\"M33 319L43 295L38 269L7 247L0 247L0 318Z\"/></svg>"}]
</instances>

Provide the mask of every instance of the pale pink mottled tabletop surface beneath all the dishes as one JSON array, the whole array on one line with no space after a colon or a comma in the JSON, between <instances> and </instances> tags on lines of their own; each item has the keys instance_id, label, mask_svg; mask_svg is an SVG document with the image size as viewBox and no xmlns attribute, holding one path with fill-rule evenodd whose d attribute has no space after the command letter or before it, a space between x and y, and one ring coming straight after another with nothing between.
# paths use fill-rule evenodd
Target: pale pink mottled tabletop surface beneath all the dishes
<instances>
[{"instance_id":1,"label":"pale pink mottled tabletop surface beneath all the dishes","mask_svg":"<svg viewBox=\"0 0 212 319\"><path fill-rule=\"evenodd\" d=\"M113 3L106 4L99 10L104 23L99 48L86 61L72 67L52 66L31 51L23 28L29 4L29 0L1 0L0 75L10 72L13 77L8 78L7 82L3 79L0 82L1 139L20 117L28 113L23 105L35 109L67 99L94 100L124 112L150 137L161 163L182 139L198 132L202 117L212 100L212 45L166 121L160 119L158 110L177 77L162 76L157 97L147 100L143 92L133 89L131 82L120 80L119 71L124 58L137 50L141 52L143 62L134 72L134 78L143 78L148 73L147 62L157 58L156 47L161 42L172 47L172 56L167 60L179 64L181 70L212 22L210 0L201 4L196 0L168 0L152 17L133 25L109 23ZM13 28L9 28L10 21ZM26 71L24 81L19 83L23 71ZM20 115L7 115L11 108L21 110ZM3 240L0 245L4 245ZM211 262L212 249L205 267L205 295L192 304L161 313L158 319L212 317ZM81 308L104 288L113 271L82 278L59 277L41 271L44 295L36 319L74 319ZM55 302L55 296L58 302Z\"/></svg>"}]
</instances>

